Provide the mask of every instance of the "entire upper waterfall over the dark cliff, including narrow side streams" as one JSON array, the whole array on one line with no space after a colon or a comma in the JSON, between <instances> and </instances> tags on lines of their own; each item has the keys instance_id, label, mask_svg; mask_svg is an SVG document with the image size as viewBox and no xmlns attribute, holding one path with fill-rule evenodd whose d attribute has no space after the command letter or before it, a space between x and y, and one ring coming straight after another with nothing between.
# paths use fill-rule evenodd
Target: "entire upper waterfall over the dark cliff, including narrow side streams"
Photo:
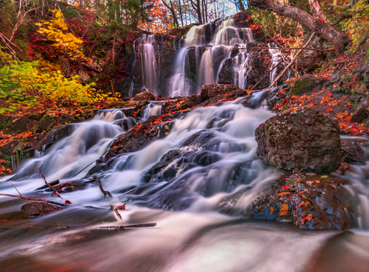
<instances>
[{"instance_id":1,"label":"entire upper waterfall over the dark cliff, including narrow side streams","mask_svg":"<svg viewBox=\"0 0 369 272\"><path fill-rule=\"evenodd\" d=\"M257 56L247 49L248 44L255 43L253 30L236 25L235 19L229 17L213 24L192 26L178 48L174 44L177 53L170 68L167 67L166 75L162 75L162 70L167 68L160 65L165 57L158 57L159 51L163 50L161 42L155 40L155 35L141 35L134 42L136 61L132 86L135 86L135 92L148 90L154 95L176 97L199 94L204 84L230 83L239 88L251 87L248 77L254 77L255 81L255 74L258 74L250 72L252 59ZM269 75L271 82L276 76L277 69L274 68L281 58L279 50L271 48L269 54L269 68L262 70L259 77L273 69ZM130 95L134 95L132 90Z\"/></svg>"}]
</instances>

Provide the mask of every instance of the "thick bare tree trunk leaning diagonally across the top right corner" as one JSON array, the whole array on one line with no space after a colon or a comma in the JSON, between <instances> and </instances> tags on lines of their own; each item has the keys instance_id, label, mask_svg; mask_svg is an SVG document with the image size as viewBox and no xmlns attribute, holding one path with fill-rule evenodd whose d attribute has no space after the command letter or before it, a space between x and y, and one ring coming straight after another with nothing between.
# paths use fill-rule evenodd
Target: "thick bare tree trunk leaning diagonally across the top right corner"
<instances>
[{"instance_id":1,"label":"thick bare tree trunk leaning diagonally across the top right corner","mask_svg":"<svg viewBox=\"0 0 369 272\"><path fill-rule=\"evenodd\" d=\"M316 34L323 39L333 43L334 47L339 52L342 52L350 41L348 34L336 30L323 20L317 19L299 8L288 6L273 0L249 0L249 6L261 8L263 10L270 10L278 15L289 17L294 21L302 23L316 32Z\"/></svg>"}]
</instances>

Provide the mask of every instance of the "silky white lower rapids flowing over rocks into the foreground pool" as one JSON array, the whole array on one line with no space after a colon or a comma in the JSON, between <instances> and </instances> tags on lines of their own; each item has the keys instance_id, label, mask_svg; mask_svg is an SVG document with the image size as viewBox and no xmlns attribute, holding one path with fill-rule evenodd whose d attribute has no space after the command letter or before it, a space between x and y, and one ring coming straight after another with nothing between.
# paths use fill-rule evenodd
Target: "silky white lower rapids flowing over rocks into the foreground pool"
<instances>
[{"instance_id":1,"label":"silky white lower rapids flowing over rocks into the foreground pool","mask_svg":"<svg viewBox=\"0 0 369 272\"><path fill-rule=\"evenodd\" d=\"M147 107L155 106L160 105L152 102ZM149 112L143 117L158 113ZM2 269L316 271L328 267L364 271L369 260L368 231L299 231L242 216L253 197L277 176L255 156L253 132L271 115L263 107L245 108L242 98L192 110L174 122L167 137L123 153L107 171L93 174L113 199L105 198L98 186L88 186L62 194L73 204L57 213L20 222L2 220ZM3 178L1 193L17 193L10 179L22 195L51 199L51 192L35 191L44 184L38 171L41 164L48 181L87 179L109 142L124 133L118 124L139 122L127 119L117 109L73 124L69 137L24 162L14 176ZM368 203L365 172L366 166L357 166L352 190L360 191L354 187L361 186L361 197ZM236 202L230 213L222 213L226 201ZM19 216L24 203L0 197L2 218ZM109 205L123 203L127 210L120 211L120 222ZM156 226L101 229L148 222Z\"/></svg>"}]
</instances>

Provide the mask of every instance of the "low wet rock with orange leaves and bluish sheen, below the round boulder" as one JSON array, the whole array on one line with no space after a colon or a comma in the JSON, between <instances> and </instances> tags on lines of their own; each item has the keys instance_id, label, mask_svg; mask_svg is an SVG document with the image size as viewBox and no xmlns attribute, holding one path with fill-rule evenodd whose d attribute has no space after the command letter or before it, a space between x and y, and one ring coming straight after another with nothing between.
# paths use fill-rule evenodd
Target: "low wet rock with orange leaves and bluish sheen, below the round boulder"
<instances>
[{"instance_id":1,"label":"low wet rock with orange leaves and bluish sheen, below the round boulder","mask_svg":"<svg viewBox=\"0 0 369 272\"><path fill-rule=\"evenodd\" d=\"M327 175L285 175L251 203L246 215L300 229L349 229L354 225L353 199L342 184L345 179Z\"/></svg>"}]
</instances>

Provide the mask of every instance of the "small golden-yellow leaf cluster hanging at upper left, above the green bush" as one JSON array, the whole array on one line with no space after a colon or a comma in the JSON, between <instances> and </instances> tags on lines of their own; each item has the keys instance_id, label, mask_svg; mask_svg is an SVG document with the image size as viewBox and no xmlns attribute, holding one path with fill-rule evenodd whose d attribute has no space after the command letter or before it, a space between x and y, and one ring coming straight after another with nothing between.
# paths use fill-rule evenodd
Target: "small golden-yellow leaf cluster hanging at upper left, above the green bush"
<instances>
[{"instance_id":1,"label":"small golden-yellow leaf cluster hanging at upper left, above the green bush","mask_svg":"<svg viewBox=\"0 0 369 272\"><path fill-rule=\"evenodd\" d=\"M51 21L42 20L41 23L36 23L39 26L38 32L46 35L49 41L53 41L56 48L71 59L84 57L81 50L83 41L72 33L66 32L68 26L63 19L62 12L60 10L51 10L51 12L54 13Z\"/></svg>"}]
</instances>

